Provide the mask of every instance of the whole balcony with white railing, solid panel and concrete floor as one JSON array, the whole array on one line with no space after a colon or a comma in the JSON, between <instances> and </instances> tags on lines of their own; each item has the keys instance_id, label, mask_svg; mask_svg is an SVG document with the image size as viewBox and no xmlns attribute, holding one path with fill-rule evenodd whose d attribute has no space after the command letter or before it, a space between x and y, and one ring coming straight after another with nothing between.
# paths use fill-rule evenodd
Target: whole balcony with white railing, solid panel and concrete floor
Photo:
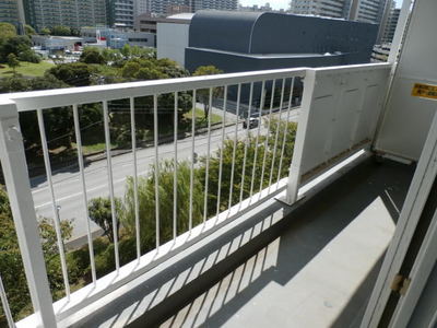
<instances>
[{"instance_id":1,"label":"whole balcony with white railing, solid panel and concrete floor","mask_svg":"<svg viewBox=\"0 0 437 328\"><path fill-rule=\"evenodd\" d=\"M386 63L299 68L2 95L2 168L35 309L15 325L302 327L308 319L310 327L346 327L358 323L414 171L373 160L370 145L390 70ZM211 113L221 115L222 121L214 130L210 114L205 128L196 132L192 119L191 133L181 138L178 95L190 95L196 109L196 93L206 95ZM160 134L162 110L168 113L160 104L163 94L174 99L170 140ZM214 99L216 95L221 101ZM150 97L153 104L153 142L145 148L135 133L140 97ZM129 106L131 149L118 157L109 128L111 106L120 99ZM94 166L87 166L83 156L84 104L99 104L103 109L106 159ZM78 168L71 176L51 167L44 120L50 108L73 115ZM24 112L36 113L46 181L35 183L27 175L19 128L19 113ZM244 129L243 121L249 118L258 124ZM293 121L297 121L295 132ZM231 160L224 159L225 144L232 149ZM237 164L239 152L243 163ZM197 155L204 165L202 179ZM168 204L162 203L168 200L160 181L164 160L186 163L176 169L170 166L167 175L170 214L164 209ZM187 189L178 180L181 169L189 174ZM217 186L211 180L214 174ZM90 184L97 176L106 184L104 190ZM144 176L154 190L146 209L154 212L147 233L153 234L155 247L146 251L141 245L145 204L138 188ZM70 180L62 187L63 178ZM204 185L199 186L199 179ZM129 194L123 187L127 180L133 185L133 221L123 234L133 234L135 258L126 261L123 236L115 229L114 271L97 274L94 247L99 229L90 220L87 203L92 197L109 195L113 227L117 226L116 198ZM193 199L196 188L202 190L201 200ZM180 202L178 192L184 190L189 196ZM54 220L60 256L64 297L56 302L38 235L35 208L44 198L38 194L47 197L45 216ZM188 211L187 222L178 218L181 209ZM91 259L91 279L74 292L66 259L74 245L66 247L60 231L61 221L73 212L75 233L83 236L75 247L85 244ZM163 235L163 224L172 226L170 235ZM4 290L2 301L12 326Z\"/></svg>"}]
</instances>

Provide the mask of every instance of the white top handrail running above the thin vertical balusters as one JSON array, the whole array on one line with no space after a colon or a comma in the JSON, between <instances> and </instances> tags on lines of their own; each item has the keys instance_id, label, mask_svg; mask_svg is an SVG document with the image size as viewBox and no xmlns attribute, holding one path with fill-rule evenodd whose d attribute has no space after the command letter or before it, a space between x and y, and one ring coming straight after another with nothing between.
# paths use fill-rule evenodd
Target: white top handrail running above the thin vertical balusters
<instances>
[{"instance_id":1,"label":"white top handrail running above the thin vertical balusters","mask_svg":"<svg viewBox=\"0 0 437 328\"><path fill-rule=\"evenodd\" d=\"M45 109L71 104L98 103L103 99L115 101L129 97L151 96L173 92L209 89L223 85L238 85L239 83L259 82L299 77L304 78L309 68L293 68L277 70L262 70L252 72L226 73L165 80L150 80L140 82L125 82L115 84L78 86L29 91L21 93L1 94L2 99L10 99L16 104L19 112Z\"/></svg>"}]
</instances>

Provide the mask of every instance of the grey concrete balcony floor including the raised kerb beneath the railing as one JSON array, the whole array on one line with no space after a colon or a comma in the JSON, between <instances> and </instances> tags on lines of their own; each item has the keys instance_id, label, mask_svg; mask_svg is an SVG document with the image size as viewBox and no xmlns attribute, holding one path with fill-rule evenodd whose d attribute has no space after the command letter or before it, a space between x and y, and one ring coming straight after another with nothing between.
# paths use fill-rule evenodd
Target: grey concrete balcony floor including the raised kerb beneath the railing
<instances>
[{"instance_id":1,"label":"grey concrete balcony floor including the raised kerb beneath the railing","mask_svg":"<svg viewBox=\"0 0 437 328\"><path fill-rule=\"evenodd\" d=\"M413 173L369 159L291 212L272 199L75 326L358 327Z\"/></svg>"}]
</instances>

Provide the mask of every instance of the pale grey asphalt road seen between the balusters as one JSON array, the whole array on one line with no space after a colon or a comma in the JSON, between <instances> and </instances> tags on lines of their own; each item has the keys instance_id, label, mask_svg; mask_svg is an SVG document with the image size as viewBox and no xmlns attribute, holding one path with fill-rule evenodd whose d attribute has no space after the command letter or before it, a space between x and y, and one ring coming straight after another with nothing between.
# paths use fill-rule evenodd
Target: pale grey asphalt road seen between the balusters
<instances>
[{"instance_id":1,"label":"pale grey asphalt road seen between the balusters","mask_svg":"<svg viewBox=\"0 0 437 328\"><path fill-rule=\"evenodd\" d=\"M298 110L291 113L290 120L296 121ZM284 114L283 114L283 118ZM257 130L252 129L252 133ZM238 138L244 139L247 130L244 130L241 125L238 127ZM261 126L261 133L267 133L267 128ZM225 128L225 139L234 139L235 125ZM178 160L191 160L191 138L186 138L177 141ZM194 149L199 156L205 155L208 152L208 134L200 134L196 137ZM210 152L214 152L222 144L222 129L211 132ZM154 163L155 150L154 148L141 149L137 151L138 157L138 174L147 174L151 164ZM174 142L162 144L158 147L158 157L173 159L174 157ZM123 197L126 179L133 174L132 153L113 156L113 180L114 191L116 197ZM82 196L82 187L80 180L80 173L76 168L71 171L62 169L55 172L52 175L54 189L56 202L59 208L61 220L72 220L73 236L70 245L80 245L86 239L86 221L84 212L84 202ZM32 189L35 210L38 216L54 218L54 209L49 188L45 177L36 177L31 180L34 186ZM108 171L107 161L102 160L93 162L85 167L85 184L88 200L96 197L108 197ZM91 222L92 232L94 235L101 233L101 229Z\"/></svg>"}]
</instances>

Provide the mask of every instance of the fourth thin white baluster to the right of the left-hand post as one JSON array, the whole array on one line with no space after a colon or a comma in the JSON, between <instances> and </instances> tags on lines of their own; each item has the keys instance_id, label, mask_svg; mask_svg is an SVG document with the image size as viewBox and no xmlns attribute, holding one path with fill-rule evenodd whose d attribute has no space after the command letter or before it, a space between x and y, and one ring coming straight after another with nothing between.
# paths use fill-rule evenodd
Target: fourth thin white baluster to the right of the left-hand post
<instances>
[{"instance_id":1,"label":"fourth thin white baluster to the right of the left-hand post","mask_svg":"<svg viewBox=\"0 0 437 328\"><path fill-rule=\"evenodd\" d=\"M140 203L138 200L138 159L137 159L137 128L135 128L135 99L130 98L130 124L132 133L132 161L133 161L133 202L135 211L135 238L137 238L137 259L141 257L141 235L140 235Z\"/></svg>"}]
</instances>

